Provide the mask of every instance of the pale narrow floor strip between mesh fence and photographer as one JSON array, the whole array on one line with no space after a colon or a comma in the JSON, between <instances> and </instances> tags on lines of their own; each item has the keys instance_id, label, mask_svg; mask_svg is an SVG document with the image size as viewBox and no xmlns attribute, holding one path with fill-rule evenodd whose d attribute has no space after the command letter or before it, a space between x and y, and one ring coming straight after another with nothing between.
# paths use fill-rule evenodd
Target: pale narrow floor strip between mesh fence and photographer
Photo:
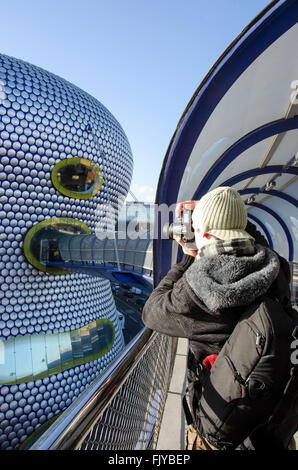
<instances>
[{"instance_id":1,"label":"pale narrow floor strip between mesh fence and photographer","mask_svg":"<svg viewBox=\"0 0 298 470\"><path fill-rule=\"evenodd\" d=\"M172 380L165 404L157 450L185 450L186 423L182 407L185 392L188 340L179 338ZM295 434L298 450L298 432Z\"/></svg>"}]
</instances>

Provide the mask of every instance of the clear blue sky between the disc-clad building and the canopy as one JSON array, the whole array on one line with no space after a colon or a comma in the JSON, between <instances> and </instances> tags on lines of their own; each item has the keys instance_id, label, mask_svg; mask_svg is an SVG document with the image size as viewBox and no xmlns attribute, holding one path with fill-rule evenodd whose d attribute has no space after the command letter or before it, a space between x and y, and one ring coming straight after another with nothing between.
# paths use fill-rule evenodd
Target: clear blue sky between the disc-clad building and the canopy
<instances>
[{"instance_id":1,"label":"clear blue sky between the disc-clad building and the canopy","mask_svg":"<svg viewBox=\"0 0 298 470\"><path fill-rule=\"evenodd\" d=\"M119 121L131 189L154 200L167 147L214 62L269 0L0 1L0 52L81 87Z\"/></svg>"}]
</instances>

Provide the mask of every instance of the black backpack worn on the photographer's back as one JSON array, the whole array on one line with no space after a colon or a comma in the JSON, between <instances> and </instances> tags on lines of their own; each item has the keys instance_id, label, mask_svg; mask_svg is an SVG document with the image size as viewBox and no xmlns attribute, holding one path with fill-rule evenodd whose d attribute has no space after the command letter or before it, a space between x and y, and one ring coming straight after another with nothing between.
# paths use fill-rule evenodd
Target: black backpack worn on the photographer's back
<instances>
[{"instance_id":1,"label":"black backpack worn on the photographer's back","mask_svg":"<svg viewBox=\"0 0 298 470\"><path fill-rule=\"evenodd\" d=\"M269 297L248 306L210 370L197 365L188 424L218 449L287 449L298 429L295 339L294 308Z\"/></svg>"}]
</instances>

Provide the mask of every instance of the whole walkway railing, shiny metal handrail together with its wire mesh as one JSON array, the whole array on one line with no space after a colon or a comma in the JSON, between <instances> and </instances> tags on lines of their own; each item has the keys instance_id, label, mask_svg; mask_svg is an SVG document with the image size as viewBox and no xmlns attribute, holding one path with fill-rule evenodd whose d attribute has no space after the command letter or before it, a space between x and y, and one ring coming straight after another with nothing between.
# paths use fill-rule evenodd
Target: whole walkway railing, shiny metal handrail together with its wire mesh
<instances>
[{"instance_id":1,"label":"whole walkway railing, shiny metal handrail together with its wire mesh","mask_svg":"<svg viewBox=\"0 0 298 470\"><path fill-rule=\"evenodd\" d=\"M30 450L156 448L176 348L143 329Z\"/></svg>"}]
</instances>

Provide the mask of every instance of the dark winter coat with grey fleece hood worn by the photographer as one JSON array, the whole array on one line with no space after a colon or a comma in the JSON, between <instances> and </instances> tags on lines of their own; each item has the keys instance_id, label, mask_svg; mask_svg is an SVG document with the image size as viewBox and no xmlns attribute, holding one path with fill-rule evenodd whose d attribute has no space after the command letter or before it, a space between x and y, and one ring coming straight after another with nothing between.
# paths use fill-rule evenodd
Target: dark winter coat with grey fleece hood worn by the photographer
<instances>
[{"instance_id":1,"label":"dark winter coat with grey fleece hood worn by the photographer","mask_svg":"<svg viewBox=\"0 0 298 470\"><path fill-rule=\"evenodd\" d=\"M246 230L255 238L255 256L236 258L225 254L195 260L184 255L144 306L145 325L169 336L188 338L198 361L219 353L245 307L259 296L266 293L289 305L287 261L268 248L253 224L248 223Z\"/></svg>"}]
</instances>

